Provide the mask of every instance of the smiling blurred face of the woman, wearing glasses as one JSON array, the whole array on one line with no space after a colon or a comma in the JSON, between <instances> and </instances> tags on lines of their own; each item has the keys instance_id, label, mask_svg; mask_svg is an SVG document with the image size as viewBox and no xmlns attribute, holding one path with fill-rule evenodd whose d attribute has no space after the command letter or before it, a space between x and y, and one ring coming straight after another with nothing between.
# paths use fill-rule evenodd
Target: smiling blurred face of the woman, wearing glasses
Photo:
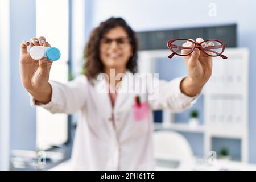
<instances>
[{"instance_id":1,"label":"smiling blurred face of the woman, wearing glasses","mask_svg":"<svg viewBox=\"0 0 256 182\"><path fill-rule=\"evenodd\" d=\"M106 32L100 42L100 59L105 68L125 69L132 53L126 31L115 27Z\"/></svg>"}]
</instances>

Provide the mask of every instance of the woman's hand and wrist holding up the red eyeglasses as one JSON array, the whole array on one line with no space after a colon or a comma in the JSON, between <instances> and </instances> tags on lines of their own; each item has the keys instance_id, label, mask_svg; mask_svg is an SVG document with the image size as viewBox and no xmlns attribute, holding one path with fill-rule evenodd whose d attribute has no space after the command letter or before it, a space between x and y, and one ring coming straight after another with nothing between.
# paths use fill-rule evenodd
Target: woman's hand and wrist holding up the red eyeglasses
<instances>
[{"instance_id":1,"label":"woman's hand and wrist holding up the red eyeglasses","mask_svg":"<svg viewBox=\"0 0 256 182\"><path fill-rule=\"evenodd\" d=\"M196 39L196 42L203 41L202 38ZM201 92L204 84L212 75L212 57L195 48L191 55L184 56L184 60L187 65L188 76L181 81L180 89L188 96L195 96Z\"/></svg>"}]
</instances>

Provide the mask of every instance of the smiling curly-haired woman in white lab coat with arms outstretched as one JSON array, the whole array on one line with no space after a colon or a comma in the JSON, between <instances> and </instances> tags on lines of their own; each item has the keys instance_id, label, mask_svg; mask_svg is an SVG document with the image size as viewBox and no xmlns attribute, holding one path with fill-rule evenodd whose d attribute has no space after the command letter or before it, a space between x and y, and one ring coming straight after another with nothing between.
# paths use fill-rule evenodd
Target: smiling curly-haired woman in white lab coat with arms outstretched
<instances>
[{"instance_id":1,"label":"smiling curly-haired woman in white lab coat with arms outstretched","mask_svg":"<svg viewBox=\"0 0 256 182\"><path fill-rule=\"evenodd\" d=\"M148 93L112 92L114 89L100 92L99 85L117 91L128 80L106 81L98 78L100 73L110 78L113 70L114 76L137 71L137 40L122 18L110 18L92 31L85 47L86 73L68 84L49 81L52 61L32 60L27 52L29 45L50 44L44 37L21 44L20 76L32 105L51 113L79 111L70 169L154 169L152 110L187 109L212 73L212 58L195 49L191 56L184 57L188 76L170 82L160 80L156 98L149 100Z\"/></svg>"}]
</instances>

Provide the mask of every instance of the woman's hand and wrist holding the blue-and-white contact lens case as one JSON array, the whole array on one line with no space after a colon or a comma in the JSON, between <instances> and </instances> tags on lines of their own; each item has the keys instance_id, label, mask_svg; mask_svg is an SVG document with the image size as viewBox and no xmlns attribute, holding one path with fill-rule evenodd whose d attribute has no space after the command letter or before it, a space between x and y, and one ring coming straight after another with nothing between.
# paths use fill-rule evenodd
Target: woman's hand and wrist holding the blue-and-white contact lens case
<instances>
[{"instance_id":1,"label":"woman's hand and wrist holding the blue-and-white contact lens case","mask_svg":"<svg viewBox=\"0 0 256 182\"><path fill-rule=\"evenodd\" d=\"M47 104L51 101L52 89L49 85L49 73L52 61L46 57L36 61L32 59L27 51L27 46L46 46L51 45L46 42L46 38L32 38L31 42L23 41L20 44L20 77L24 88L34 97L36 101Z\"/></svg>"}]
</instances>

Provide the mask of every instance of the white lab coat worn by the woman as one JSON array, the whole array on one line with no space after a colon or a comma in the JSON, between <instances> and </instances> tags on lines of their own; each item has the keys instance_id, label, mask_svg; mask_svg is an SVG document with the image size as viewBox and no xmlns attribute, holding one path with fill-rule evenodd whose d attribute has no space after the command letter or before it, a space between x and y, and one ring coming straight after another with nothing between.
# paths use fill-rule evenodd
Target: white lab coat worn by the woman
<instances>
[{"instance_id":1,"label":"white lab coat worn by the woman","mask_svg":"<svg viewBox=\"0 0 256 182\"><path fill-rule=\"evenodd\" d=\"M78 76L67 84L50 81L51 102L42 105L31 98L31 104L51 113L79 111L69 169L151 170L154 169L152 110L183 111L199 97L181 93L181 79L159 80L159 97L154 100L148 100L146 93L141 94L142 101L146 98L148 104L148 116L141 121L134 121L133 117L135 94L118 93L112 109L109 94L96 90L102 81L89 82L86 76Z\"/></svg>"}]
</instances>

